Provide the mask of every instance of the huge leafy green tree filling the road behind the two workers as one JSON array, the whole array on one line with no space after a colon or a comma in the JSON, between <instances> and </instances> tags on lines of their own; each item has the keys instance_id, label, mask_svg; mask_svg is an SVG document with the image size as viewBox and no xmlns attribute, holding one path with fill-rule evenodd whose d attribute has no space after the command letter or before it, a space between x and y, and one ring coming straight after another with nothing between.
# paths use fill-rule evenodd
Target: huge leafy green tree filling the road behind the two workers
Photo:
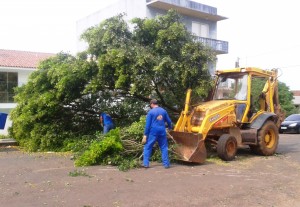
<instances>
[{"instance_id":1,"label":"huge leafy green tree filling the road behind the two workers","mask_svg":"<svg viewBox=\"0 0 300 207\"><path fill-rule=\"evenodd\" d=\"M196 99L207 95L211 84L207 64L215 54L196 41L175 11L154 19L135 18L133 27L123 17L89 28L82 34L86 51L76 56L59 53L41 62L28 83L16 89L18 104L11 113L10 134L22 147L29 151L89 148L91 155L82 158L81 165L108 162L100 154L110 150L134 159L142 146L130 151L119 149L118 142L135 146L138 134L128 128L123 133L123 127L145 115L151 98L159 99L172 116L183 108L188 88L194 89ZM101 130L98 114L103 111L122 127L119 138L95 136Z\"/></svg>"}]
</instances>

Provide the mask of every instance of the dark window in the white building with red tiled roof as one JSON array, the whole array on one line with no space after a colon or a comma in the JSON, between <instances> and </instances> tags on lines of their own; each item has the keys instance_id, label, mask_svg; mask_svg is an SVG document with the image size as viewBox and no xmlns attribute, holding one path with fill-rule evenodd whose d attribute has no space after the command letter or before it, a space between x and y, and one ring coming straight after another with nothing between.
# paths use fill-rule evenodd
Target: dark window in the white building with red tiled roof
<instances>
[{"instance_id":1,"label":"dark window in the white building with red tiled roof","mask_svg":"<svg viewBox=\"0 0 300 207\"><path fill-rule=\"evenodd\" d=\"M17 86L18 73L0 72L0 103L13 103L13 89Z\"/></svg>"}]
</instances>

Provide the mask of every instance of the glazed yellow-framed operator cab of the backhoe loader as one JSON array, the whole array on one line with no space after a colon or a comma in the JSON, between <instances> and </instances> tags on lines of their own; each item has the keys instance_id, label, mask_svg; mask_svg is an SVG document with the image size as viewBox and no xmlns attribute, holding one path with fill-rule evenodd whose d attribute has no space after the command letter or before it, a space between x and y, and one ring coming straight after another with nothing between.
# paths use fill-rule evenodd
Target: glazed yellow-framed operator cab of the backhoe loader
<instances>
[{"instance_id":1,"label":"glazed yellow-framed operator cab of the backhoe loader","mask_svg":"<svg viewBox=\"0 0 300 207\"><path fill-rule=\"evenodd\" d=\"M270 74L255 69L233 70L217 74L213 100L228 100L236 106L236 121L249 123L255 114L270 112Z\"/></svg>"}]
</instances>

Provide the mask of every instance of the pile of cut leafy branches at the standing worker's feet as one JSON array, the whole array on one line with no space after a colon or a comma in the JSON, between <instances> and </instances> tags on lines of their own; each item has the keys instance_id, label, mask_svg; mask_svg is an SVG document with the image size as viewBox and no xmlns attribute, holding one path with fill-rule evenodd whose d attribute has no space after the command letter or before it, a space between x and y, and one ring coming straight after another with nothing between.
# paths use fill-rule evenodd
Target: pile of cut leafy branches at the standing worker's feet
<instances>
[{"instance_id":1,"label":"pile of cut leafy branches at the standing worker's feet","mask_svg":"<svg viewBox=\"0 0 300 207\"><path fill-rule=\"evenodd\" d=\"M75 166L114 165L122 171L141 166L143 145L141 143L146 118L142 116L139 122L134 122L126 128L117 128L109 133L97 134L97 139L91 142L87 150L75 159ZM169 147L170 159L174 159L173 146ZM154 146L151 161L160 161L158 146Z\"/></svg>"}]
</instances>

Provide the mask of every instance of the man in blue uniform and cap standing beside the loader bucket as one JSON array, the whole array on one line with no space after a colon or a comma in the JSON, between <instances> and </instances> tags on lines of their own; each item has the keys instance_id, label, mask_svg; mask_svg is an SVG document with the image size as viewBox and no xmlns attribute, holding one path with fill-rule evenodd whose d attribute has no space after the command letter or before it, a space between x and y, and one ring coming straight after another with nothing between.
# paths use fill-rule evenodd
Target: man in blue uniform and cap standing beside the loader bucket
<instances>
[{"instance_id":1,"label":"man in blue uniform and cap standing beside the loader bucket","mask_svg":"<svg viewBox=\"0 0 300 207\"><path fill-rule=\"evenodd\" d=\"M167 111L158 106L156 99L150 101L150 107L151 110L147 114L143 137L143 140L145 141L143 165L145 168L149 167L149 159L152 155L153 145L157 142L161 150L162 163L165 168L169 168L170 161L165 123L168 124L168 128L171 130L172 122Z\"/></svg>"}]
</instances>

